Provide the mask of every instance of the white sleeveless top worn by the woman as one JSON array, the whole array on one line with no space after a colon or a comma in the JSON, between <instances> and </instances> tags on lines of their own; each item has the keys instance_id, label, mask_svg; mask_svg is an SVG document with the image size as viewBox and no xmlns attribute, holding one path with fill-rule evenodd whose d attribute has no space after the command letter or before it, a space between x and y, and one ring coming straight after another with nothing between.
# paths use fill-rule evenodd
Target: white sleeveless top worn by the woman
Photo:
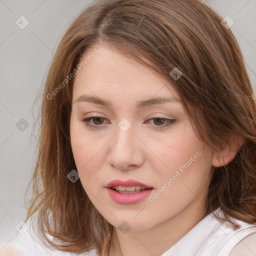
<instances>
[{"instance_id":1,"label":"white sleeveless top worn by the woman","mask_svg":"<svg viewBox=\"0 0 256 256\"><path fill-rule=\"evenodd\" d=\"M215 212L222 215L220 208ZM248 224L237 219L235 222L241 226L237 230L233 230L232 225L227 221L221 224L213 213L210 213L161 256L228 256L241 239L256 233L256 223ZM51 250L43 245L30 229L26 229L27 226L24 225L15 238L8 243L19 248L25 256L97 256L95 249L81 254Z\"/></svg>"}]
</instances>

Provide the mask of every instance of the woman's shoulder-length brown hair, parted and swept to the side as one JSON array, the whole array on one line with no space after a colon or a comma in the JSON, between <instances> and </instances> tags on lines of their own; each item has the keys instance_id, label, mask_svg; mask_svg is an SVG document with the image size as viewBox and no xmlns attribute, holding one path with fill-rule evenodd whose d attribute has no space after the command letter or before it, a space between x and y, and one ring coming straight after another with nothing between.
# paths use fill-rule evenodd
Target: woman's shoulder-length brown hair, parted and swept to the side
<instances>
[{"instance_id":1,"label":"woman's shoulder-length brown hair, parted and swept to the side","mask_svg":"<svg viewBox=\"0 0 256 256\"><path fill-rule=\"evenodd\" d=\"M69 135L73 79L63 81L86 49L102 43L171 83L207 144L226 146L230 134L245 141L231 162L212 167L205 212L221 207L224 218L217 217L235 227L230 217L256 221L256 106L241 51L221 19L199 0L99 0L72 22L45 82L34 196L26 218L37 214L39 234L48 246L72 252L96 248L101 256L111 245L113 226L80 181L67 178L76 168ZM183 73L178 80L169 75L174 67Z\"/></svg>"}]
</instances>

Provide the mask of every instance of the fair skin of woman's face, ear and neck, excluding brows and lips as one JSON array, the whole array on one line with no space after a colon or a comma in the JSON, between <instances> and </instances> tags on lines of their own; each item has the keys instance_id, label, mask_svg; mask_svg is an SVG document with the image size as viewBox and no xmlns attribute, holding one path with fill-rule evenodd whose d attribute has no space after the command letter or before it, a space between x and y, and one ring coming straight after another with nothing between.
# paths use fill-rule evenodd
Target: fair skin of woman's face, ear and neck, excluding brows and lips
<instances>
[{"instance_id":1,"label":"fair skin of woman's face, ear and neck, excluding brows and lips","mask_svg":"<svg viewBox=\"0 0 256 256\"><path fill-rule=\"evenodd\" d=\"M169 82L110 47L94 45L84 55L95 47L99 53L73 83L70 137L80 181L97 210L114 226L109 255L161 255L204 217L210 169L230 161L235 153L220 154L205 145L181 102L137 108L138 100L178 98L178 94ZM82 94L108 100L112 107L74 102ZM96 128L81 121L94 115L103 117L90 119ZM152 119L155 116L176 121L160 128L165 121L159 125L159 119ZM118 127L123 118L131 123L125 132ZM153 195L197 151L200 156L154 202L147 196L134 204L119 204L108 195L105 185L116 178L148 184ZM123 221L130 226L126 233L118 228Z\"/></svg>"}]
</instances>

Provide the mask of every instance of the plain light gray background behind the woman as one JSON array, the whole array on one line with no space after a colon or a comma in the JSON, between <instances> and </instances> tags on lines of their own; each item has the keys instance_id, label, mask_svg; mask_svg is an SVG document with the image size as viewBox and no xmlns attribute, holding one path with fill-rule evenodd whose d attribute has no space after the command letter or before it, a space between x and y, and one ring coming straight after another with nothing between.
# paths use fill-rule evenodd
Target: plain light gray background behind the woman
<instances>
[{"instance_id":1,"label":"plain light gray background behind the woman","mask_svg":"<svg viewBox=\"0 0 256 256\"><path fill-rule=\"evenodd\" d=\"M15 226L25 216L24 192L36 160L38 123L35 126L34 123L50 60L67 25L89 2L91 1L0 0L0 242L2 244L12 239ZM222 17L228 15L234 20L231 30L242 49L255 92L256 0L205 0L205 2L217 10ZM29 21L24 29L20 29L15 23L16 20L20 20L21 15ZM39 99L35 101L37 95ZM23 130L22 126L16 126L22 118L28 124Z\"/></svg>"}]
</instances>

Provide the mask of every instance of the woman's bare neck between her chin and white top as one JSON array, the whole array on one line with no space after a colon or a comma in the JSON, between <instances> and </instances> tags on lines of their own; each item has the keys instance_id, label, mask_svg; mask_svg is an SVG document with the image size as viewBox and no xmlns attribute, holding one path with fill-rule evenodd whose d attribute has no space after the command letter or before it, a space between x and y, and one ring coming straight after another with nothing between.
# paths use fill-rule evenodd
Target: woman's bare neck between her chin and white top
<instances>
[{"instance_id":1,"label":"woman's bare neck between her chin and white top","mask_svg":"<svg viewBox=\"0 0 256 256\"><path fill-rule=\"evenodd\" d=\"M204 203L196 198L178 214L151 228L123 233L114 227L109 256L160 256L204 216Z\"/></svg>"}]
</instances>

